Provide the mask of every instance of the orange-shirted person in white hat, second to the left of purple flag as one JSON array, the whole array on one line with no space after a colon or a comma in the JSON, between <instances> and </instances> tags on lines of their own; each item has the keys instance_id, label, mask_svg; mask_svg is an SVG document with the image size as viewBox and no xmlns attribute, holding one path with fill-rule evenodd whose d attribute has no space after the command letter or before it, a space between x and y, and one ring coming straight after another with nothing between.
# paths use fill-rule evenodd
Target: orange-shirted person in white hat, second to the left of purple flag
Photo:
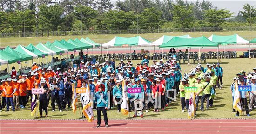
<instances>
[{"instance_id":1,"label":"orange-shirted person in white hat, second to the left of purple flag","mask_svg":"<svg viewBox=\"0 0 256 134\"><path fill-rule=\"evenodd\" d=\"M19 89L20 89L20 108L24 109L26 106L26 97L27 97L27 83L25 79L19 79Z\"/></svg>"}]
</instances>

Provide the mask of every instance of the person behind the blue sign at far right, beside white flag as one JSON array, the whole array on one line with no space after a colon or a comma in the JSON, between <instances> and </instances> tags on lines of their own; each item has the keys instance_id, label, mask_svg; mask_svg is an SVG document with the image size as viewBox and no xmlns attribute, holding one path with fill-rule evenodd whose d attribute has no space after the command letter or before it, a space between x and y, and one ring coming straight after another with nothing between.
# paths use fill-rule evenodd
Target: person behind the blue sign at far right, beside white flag
<instances>
[{"instance_id":1,"label":"person behind the blue sign at far right, beside white flag","mask_svg":"<svg viewBox=\"0 0 256 134\"><path fill-rule=\"evenodd\" d=\"M244 86L245 81L243 79L239 79L239 82L240 82L241 86ZM246 116L249 117L250 114L249 114L249 109L248 109L248 104L247 104L247 99L246 99L246 97L247 97L246 91L239 91L239 93L240 93L242 107L243 108L245 107ZM239 116L239 111L236 111L236 116Z\"/></svg>"}]
</instances>

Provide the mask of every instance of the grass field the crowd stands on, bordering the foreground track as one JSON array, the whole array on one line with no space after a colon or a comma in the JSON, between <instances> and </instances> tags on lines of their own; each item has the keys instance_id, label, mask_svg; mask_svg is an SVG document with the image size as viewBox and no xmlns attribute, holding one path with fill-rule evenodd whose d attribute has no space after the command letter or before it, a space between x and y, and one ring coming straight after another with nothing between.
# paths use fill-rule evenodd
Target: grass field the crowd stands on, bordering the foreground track
<instances>
[{"instance_id":1,"label":"grass field the crowd stands on, bordering the foreground track","mask_svg":"<svg viewBox=\"0 0 256 134\"><path fill-rule=\"evenodd\" d=\"M230 85L233 82L232 78L236 76L241 70L246 72L252 71L252 68L256 67L256 59L221 59L221 66L224 70L223 76L223 88L216 89L216 98L214 99L214 106L210 107L208 110L197 111L196 117L198 119L205 118L235 118L235 113L232 113L232 97L230 93ZM132 61L134 64L140 61ZM209 63L216 63L216 59L208 59ZM150 64L152 61L150 61ZM205 64L202 64L205 67ZM182 64L182 74L188 73L192 67L195 65L190 64ZM81 107L80 107L81 109ZM41 119L81 119L80 111L77 110L74 115L71 109L67 109L62 113L57 109L55 112L51 111L51 107L49 107L48 118ZM96 112L94 111L94 115ZM133 116L134 112L130 112L130 116ZM250 118L256 118L256 110L250 112ZM15 112L0 112L1 119L36 119L34 116L30 115L30 105L27 105L26 109L19 109ZM116 109L108 110L108 118L109 119L129 119L129 116L123 116L120 113L116 112ZM177 102L173 102L168 106L165 111L161 111L159 113L153 113L150 110L148 113L144 111L144 119L168 119L168 118L187 118L187 111L184 113L181 111L181 105L179 98L177 97ZM244 118L243 114L236 118ZM248 118L248 117L247 117ZM140 117L138 118L140 119Z\"/></svg>"}]
</instances>

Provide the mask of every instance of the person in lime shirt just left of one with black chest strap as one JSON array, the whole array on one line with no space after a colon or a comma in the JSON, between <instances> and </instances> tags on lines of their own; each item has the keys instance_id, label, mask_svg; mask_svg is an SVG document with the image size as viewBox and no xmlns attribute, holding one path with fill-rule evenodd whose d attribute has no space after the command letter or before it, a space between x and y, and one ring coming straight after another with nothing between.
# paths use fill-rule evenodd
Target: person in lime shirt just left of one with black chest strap
<instances>
[{"instance_id":1,"label":"person in lime shirt just left of one with black chest strap","mask_svg":"<svg viewBox=\"0 0 256 134\"><path fill-rule=\"evenodd\" d=\"M196 83L195 83L195 87L197 87L197 92L195 94L195 101L196 101L196 109L195 111L197 110L197 107L198 107L198 104L199 104L199 100L201 100L201 109L203 107L203 102L202 102L202 99L203 99L203 84L201 83L201 77L197 77L196 78Z\"/></svg>"}]
</instances>

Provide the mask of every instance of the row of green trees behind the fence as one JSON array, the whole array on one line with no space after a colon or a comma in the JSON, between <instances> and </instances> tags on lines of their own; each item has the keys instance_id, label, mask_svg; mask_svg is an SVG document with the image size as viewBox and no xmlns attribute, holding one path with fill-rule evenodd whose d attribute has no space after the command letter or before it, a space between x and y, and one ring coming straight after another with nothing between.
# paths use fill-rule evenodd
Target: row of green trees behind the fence
<instances>
[{"instance_id":1,"label":"row of green trees behind the fence","mask_svg":"<svg viewBox=\"0 0 256 134\"><path fill-rule=\"evenodd\" d=\"M209 1L0 0L1 33L252 26L256 8L237 16Z\"/></svg>"}]
</instances>

